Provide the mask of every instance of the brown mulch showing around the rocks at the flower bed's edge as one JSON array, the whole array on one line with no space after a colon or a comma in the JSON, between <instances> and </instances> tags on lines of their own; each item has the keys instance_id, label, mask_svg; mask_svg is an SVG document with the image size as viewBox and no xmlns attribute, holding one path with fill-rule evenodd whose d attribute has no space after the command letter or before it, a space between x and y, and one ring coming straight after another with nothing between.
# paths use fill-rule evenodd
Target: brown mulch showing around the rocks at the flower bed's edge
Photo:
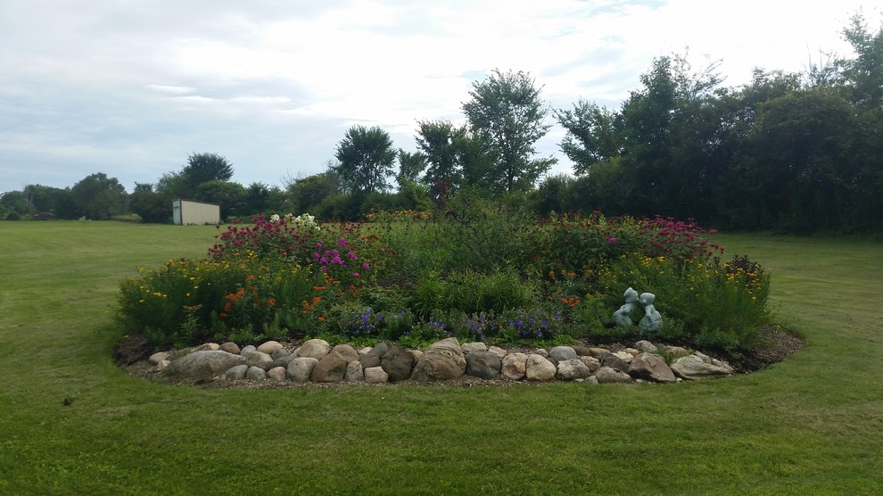
<instances>
[{"instance_id":1,"label":"brown mulch showing around the rocks at the flower bed's edge","mask_svg":"<svg viewBox=\"0 0 883 496\"><path fill-rule=\"evenodd\" d=\"M154 382L162 382L167 384L181 384L181 385L199 385L201 387L210 387L210 388L224 388L224 389L289 389L289 388L301 388L301 387L313 387L313 388L334 388L340 386L351 386L353 384L349 383L336 383L336 384L315 384L315 383L307 383L307 384L296 384L292 382L278 383L276 381L193 381L193 380L180 380L180 379L172 379L170 377L164 376L163 374L156 371L156 367L150 364L147 359L147 355L144 355L144 344L140 341L136 343L128 343L128 339L138 340L139 338L127 338L123 339L118 343L117 347L114 350L114 358L120 364L120 368L126 371L131 376L141 377L147 380L151 380ZM756 372L758 370L762 370L763 368L767 368L774 363L778 363L782 360L788 358L791 353L794 353L801 348L804 347L804 340L799 336L794 335L789 332L787 328L781 327L779 325L771 325L766 327L763 330L763 335L761 336L761 344L757 346L752 351L747 351L739 354L738 356L730 356L722 351L703 351L706 355L712 356L719 360L724 360L730 364L730 366L735 370L737 374L750 374L752 372ZM623 344L618 342L613 343L597 343L592 342L590 340L582 341L582 345L587 347L599 346L607 348L610 351L619 351L623 348L631 346L631 344ZM291 350L296 348L296 343L289 343L287 346ZM133 355L126 356L125 351L134 351L136 353ZM529 348L517 349L513 351L522 351L522 352L531 352L532 350ZM446 381L444 383L433 383L429 385L453 385L460 387L473 387L473 386L509 386L514 384L525 384L526 381L510 381L508 379L481 379L478 377L472 376L462 376L459 379L453 381ZM415 383L413 381L402 381L400 383L394 384L360 384L362 386L367 387L389 387L397 384L420 384L427 385L423 383Z\"/></svg>"}]
</instances>

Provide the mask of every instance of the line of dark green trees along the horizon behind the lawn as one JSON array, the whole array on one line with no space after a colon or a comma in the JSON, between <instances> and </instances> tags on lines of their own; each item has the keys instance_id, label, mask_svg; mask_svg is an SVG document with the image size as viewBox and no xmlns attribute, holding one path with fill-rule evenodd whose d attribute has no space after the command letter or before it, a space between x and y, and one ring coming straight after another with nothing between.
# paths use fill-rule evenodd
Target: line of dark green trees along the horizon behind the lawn
<instances>
[{"instance_id":1,"label":"line of dark green trees along the horizon behind the lawn","mask_svg":"<svg viewBox=\"0 0 883 496\"><path fill-rule=\"evenodd\" d=\"M219 203L225 217L309 211L358 219L372 210L432 209L470 192L540 214L603 211L696 219L707 227L791 233L883 230L883 28L855 15L842 31L854 56L830 54L803 73L755 70L723 87L719 62L654 59L618 108L580 99L551 109L531 75L494 70L462 103L465 124L417 120L417 150L355 125L322 173L285 186L231 182L232 165L194 153L186 166L126 194L93 174L71 188L26 186L0 196L0 219L53 212L170 219L171 200ZM537 157L549 115L565 128L574 174Z\"/></svg>"}]
</instances>

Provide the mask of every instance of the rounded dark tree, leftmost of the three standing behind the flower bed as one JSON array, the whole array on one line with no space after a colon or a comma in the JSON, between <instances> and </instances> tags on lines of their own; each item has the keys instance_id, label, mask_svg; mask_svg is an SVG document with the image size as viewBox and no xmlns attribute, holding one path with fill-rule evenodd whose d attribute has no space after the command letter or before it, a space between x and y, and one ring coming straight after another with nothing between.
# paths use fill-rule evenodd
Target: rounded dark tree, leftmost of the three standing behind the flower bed
<instances>
[{"instance_id":1,"label":"rounded dark tree, leftmost of the three standing behind the flower bed","mask_svg":"<svg viewBox=\"0 0 883 496\"><path fill-rule=\"evenodd\" d=\"M386 178L392 176L396 150L384 129L356 124L347 130L334 156L339 163L332 169L351 193L370 194L389 187Z\"/></svg>"}]
</instances>

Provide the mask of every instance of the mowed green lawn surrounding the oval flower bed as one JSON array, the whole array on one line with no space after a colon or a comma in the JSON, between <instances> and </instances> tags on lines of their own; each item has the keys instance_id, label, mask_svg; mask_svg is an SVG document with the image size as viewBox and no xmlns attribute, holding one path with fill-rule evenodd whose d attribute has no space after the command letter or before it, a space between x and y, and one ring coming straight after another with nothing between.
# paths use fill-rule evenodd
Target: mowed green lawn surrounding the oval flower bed
<instances>
[{"instance_id":1,"label":"mowed green lawn surrounding the oval flower bed","mask_svg":"<svg viewBox=\"0 0 883 496\"><path fill-rule=\"evenodd\" d=\"M216 232L0 223L0 494L883 492L883 244L717 236L772 269L777 319L808 343L748 376L279 391L127 376L120 279L202 256Z\"/></svg>"}]
</instances>

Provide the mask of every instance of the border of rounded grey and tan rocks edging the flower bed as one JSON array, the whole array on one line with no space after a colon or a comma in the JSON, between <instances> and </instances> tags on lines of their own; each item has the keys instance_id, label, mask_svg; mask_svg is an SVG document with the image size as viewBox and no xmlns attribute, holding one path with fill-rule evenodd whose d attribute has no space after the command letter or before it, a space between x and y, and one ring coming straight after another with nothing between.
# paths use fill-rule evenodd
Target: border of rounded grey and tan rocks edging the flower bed
<instances>
[{"instance_id":1,"label":"border of rounded grey and tan rocks edging the flower bed","mask_svg":"<svg viewBox=\"0 0 883 496\"><path fill-rule=\"evenodd\" d=\"M337 386L347 384L673 384L731 376L723 360L678 346L650 343L614 351L604 347L555 346L505 350L450 337L424 351L377 343L354 349L310 339L287 347L277 341L240 348L205 343L150 355L140 372L151 379L219 387Z\"/></svg>"}]
</instances>

